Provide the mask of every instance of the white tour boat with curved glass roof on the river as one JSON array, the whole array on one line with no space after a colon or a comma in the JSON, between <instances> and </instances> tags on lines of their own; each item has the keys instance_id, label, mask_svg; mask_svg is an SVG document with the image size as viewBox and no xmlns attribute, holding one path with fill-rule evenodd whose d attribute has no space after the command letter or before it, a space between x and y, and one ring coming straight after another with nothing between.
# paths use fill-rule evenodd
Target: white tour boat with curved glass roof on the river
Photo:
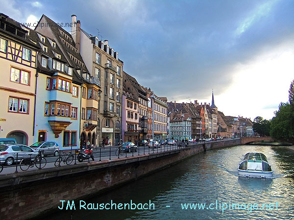
<instances>
[{"instance_id":1,"label":"white tour boat with curved glass roof on the river","mask_svg":"<svg viewBox=\"0 0 294 220\"><path fill-rule=\"evenodd\" d=\"M240 176L267 178L272 177L273 171L265 154L247 153L239 164L238 173Z\"/></svg>"}]
</instances>

